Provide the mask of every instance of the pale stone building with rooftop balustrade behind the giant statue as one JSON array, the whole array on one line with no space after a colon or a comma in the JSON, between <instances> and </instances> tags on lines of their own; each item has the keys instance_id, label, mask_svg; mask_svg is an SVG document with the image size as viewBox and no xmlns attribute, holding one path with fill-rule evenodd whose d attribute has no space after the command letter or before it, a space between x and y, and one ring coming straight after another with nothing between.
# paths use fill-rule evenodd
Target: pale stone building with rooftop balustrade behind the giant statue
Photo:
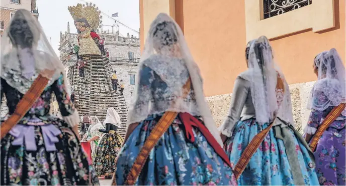
<instances>
[{"instance_id":1,"label":"pale stone building with rooftop balustrade behind the giant statue","mask_svg":"<svg viewBox=\"0 0 346 186\"><path fill-rule=\"evenodd\" d=\"M123 80L123 94L126 105L129 106L131 95L134 92L137 65L140 59L139 38L131 38L129 34L122 37L118 33L109 32L98 33L98 35L100 38L105 38L105 49L109 50L109 60L113 70L117 71L118 81ZM70 32L69 23L67 24L67 31L64 34L60 32L60 47L58 50L60 51L60 59L65 65L71 46L77 43L76 36L76 33Z\"/></svg>"}]
</instances>

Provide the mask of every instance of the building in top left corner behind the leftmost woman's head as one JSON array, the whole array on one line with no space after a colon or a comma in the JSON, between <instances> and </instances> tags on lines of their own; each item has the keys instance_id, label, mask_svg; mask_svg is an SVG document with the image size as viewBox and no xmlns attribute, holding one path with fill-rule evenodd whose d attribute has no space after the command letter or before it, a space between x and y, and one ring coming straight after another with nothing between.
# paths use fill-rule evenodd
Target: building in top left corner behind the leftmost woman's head
<instances>
[{"instance_id":1,"label":"building in top left corner behind the leftmost woman's head","mask_svg":"<svg viewBox=\"0 0 346 186\"><path fill-rule=\"evenodd\" d=\"M19 9L25 9L30 11L33 16L38 19L38 7L36 7L36 0L1 0L1 36L3 36L3 32L6 27L9 25L12 16Z\"/></svg>"}]
</instances>

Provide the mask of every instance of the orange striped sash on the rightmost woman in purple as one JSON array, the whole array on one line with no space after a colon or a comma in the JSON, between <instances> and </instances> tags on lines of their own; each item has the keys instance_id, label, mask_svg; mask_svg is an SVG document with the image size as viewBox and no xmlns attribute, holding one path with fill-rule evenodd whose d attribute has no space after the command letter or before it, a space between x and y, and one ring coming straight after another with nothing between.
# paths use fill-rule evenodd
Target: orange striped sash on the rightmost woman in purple
<instances>
[{"instance_id":1,"label":"orange striped sash on the rightmost woman in purple","mask_svg":"<svg viewBox=\"0 0 346 186\"><path fill-rule=\"evenodd\" d=\"M329 114L325 117L322 124L317 128L316 133L313 135L310 141L310 149L312 152L315 151L319 138L321 138L323 132L329 127L329 125L340 116L341 112L345 109L345 103L341 103L334 107Z\"/></svg>"}]
</instances>

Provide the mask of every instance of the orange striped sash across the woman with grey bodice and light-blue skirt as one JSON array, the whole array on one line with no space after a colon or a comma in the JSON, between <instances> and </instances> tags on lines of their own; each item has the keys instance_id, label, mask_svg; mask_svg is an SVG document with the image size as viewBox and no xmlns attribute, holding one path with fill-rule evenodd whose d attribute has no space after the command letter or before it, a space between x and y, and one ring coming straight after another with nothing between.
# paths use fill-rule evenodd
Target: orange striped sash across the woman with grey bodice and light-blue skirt
<instances>
[{"instance_id":1,"label":"orange striped sash across the woman with grey bodice and light-blue skirt","mask_svg":"<svg viewBox=\"0 0 346 186\"><path fill-rule=\"evenodd\" d=\"M282 78L279 75L279 73L278 73L278 77L277 77L276 89L277 90L281 89L285 93L284 81L282 80ZM280 92L280 91L277 91L277 92ZM280 105L280 104L281 103L278 103L278 105ZM234 166L234 169L233 169L234 176L235 176L236 179L238 179L239 176L241 175L241 173L245 170L247 164L250 162L251 157L256 152L258 147L260 147L261 143L263 142L263 140L267 136L267 134L270 131L270 129L272 129L273 123L274 123L275 120L276 120L276 117L273 120L273 122L266 129L264 129L261 132L259 132L258 134L256 134L252 138L250 143L246 146L245 150L241 154L237 164Z\"/></svg>"}]
</instances>

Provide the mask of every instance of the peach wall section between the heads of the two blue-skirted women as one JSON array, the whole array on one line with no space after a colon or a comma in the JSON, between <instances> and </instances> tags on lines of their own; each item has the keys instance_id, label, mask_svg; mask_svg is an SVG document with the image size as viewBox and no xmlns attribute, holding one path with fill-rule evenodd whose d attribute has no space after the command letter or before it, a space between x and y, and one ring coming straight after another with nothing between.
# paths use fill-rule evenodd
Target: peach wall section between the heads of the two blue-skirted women
<instances>
[{"instance_id":1,"label":"peach wall section between the heads of the two blue-skirted women","mask_svg":"<svg viewBox=\"0 0 346 186\"><path fill-rule=\"evenodd\" d=\"M185 0L184 35L199 65L206 96L232 92L246 69L244 1Z\"/></svg>"}]
</instances>

